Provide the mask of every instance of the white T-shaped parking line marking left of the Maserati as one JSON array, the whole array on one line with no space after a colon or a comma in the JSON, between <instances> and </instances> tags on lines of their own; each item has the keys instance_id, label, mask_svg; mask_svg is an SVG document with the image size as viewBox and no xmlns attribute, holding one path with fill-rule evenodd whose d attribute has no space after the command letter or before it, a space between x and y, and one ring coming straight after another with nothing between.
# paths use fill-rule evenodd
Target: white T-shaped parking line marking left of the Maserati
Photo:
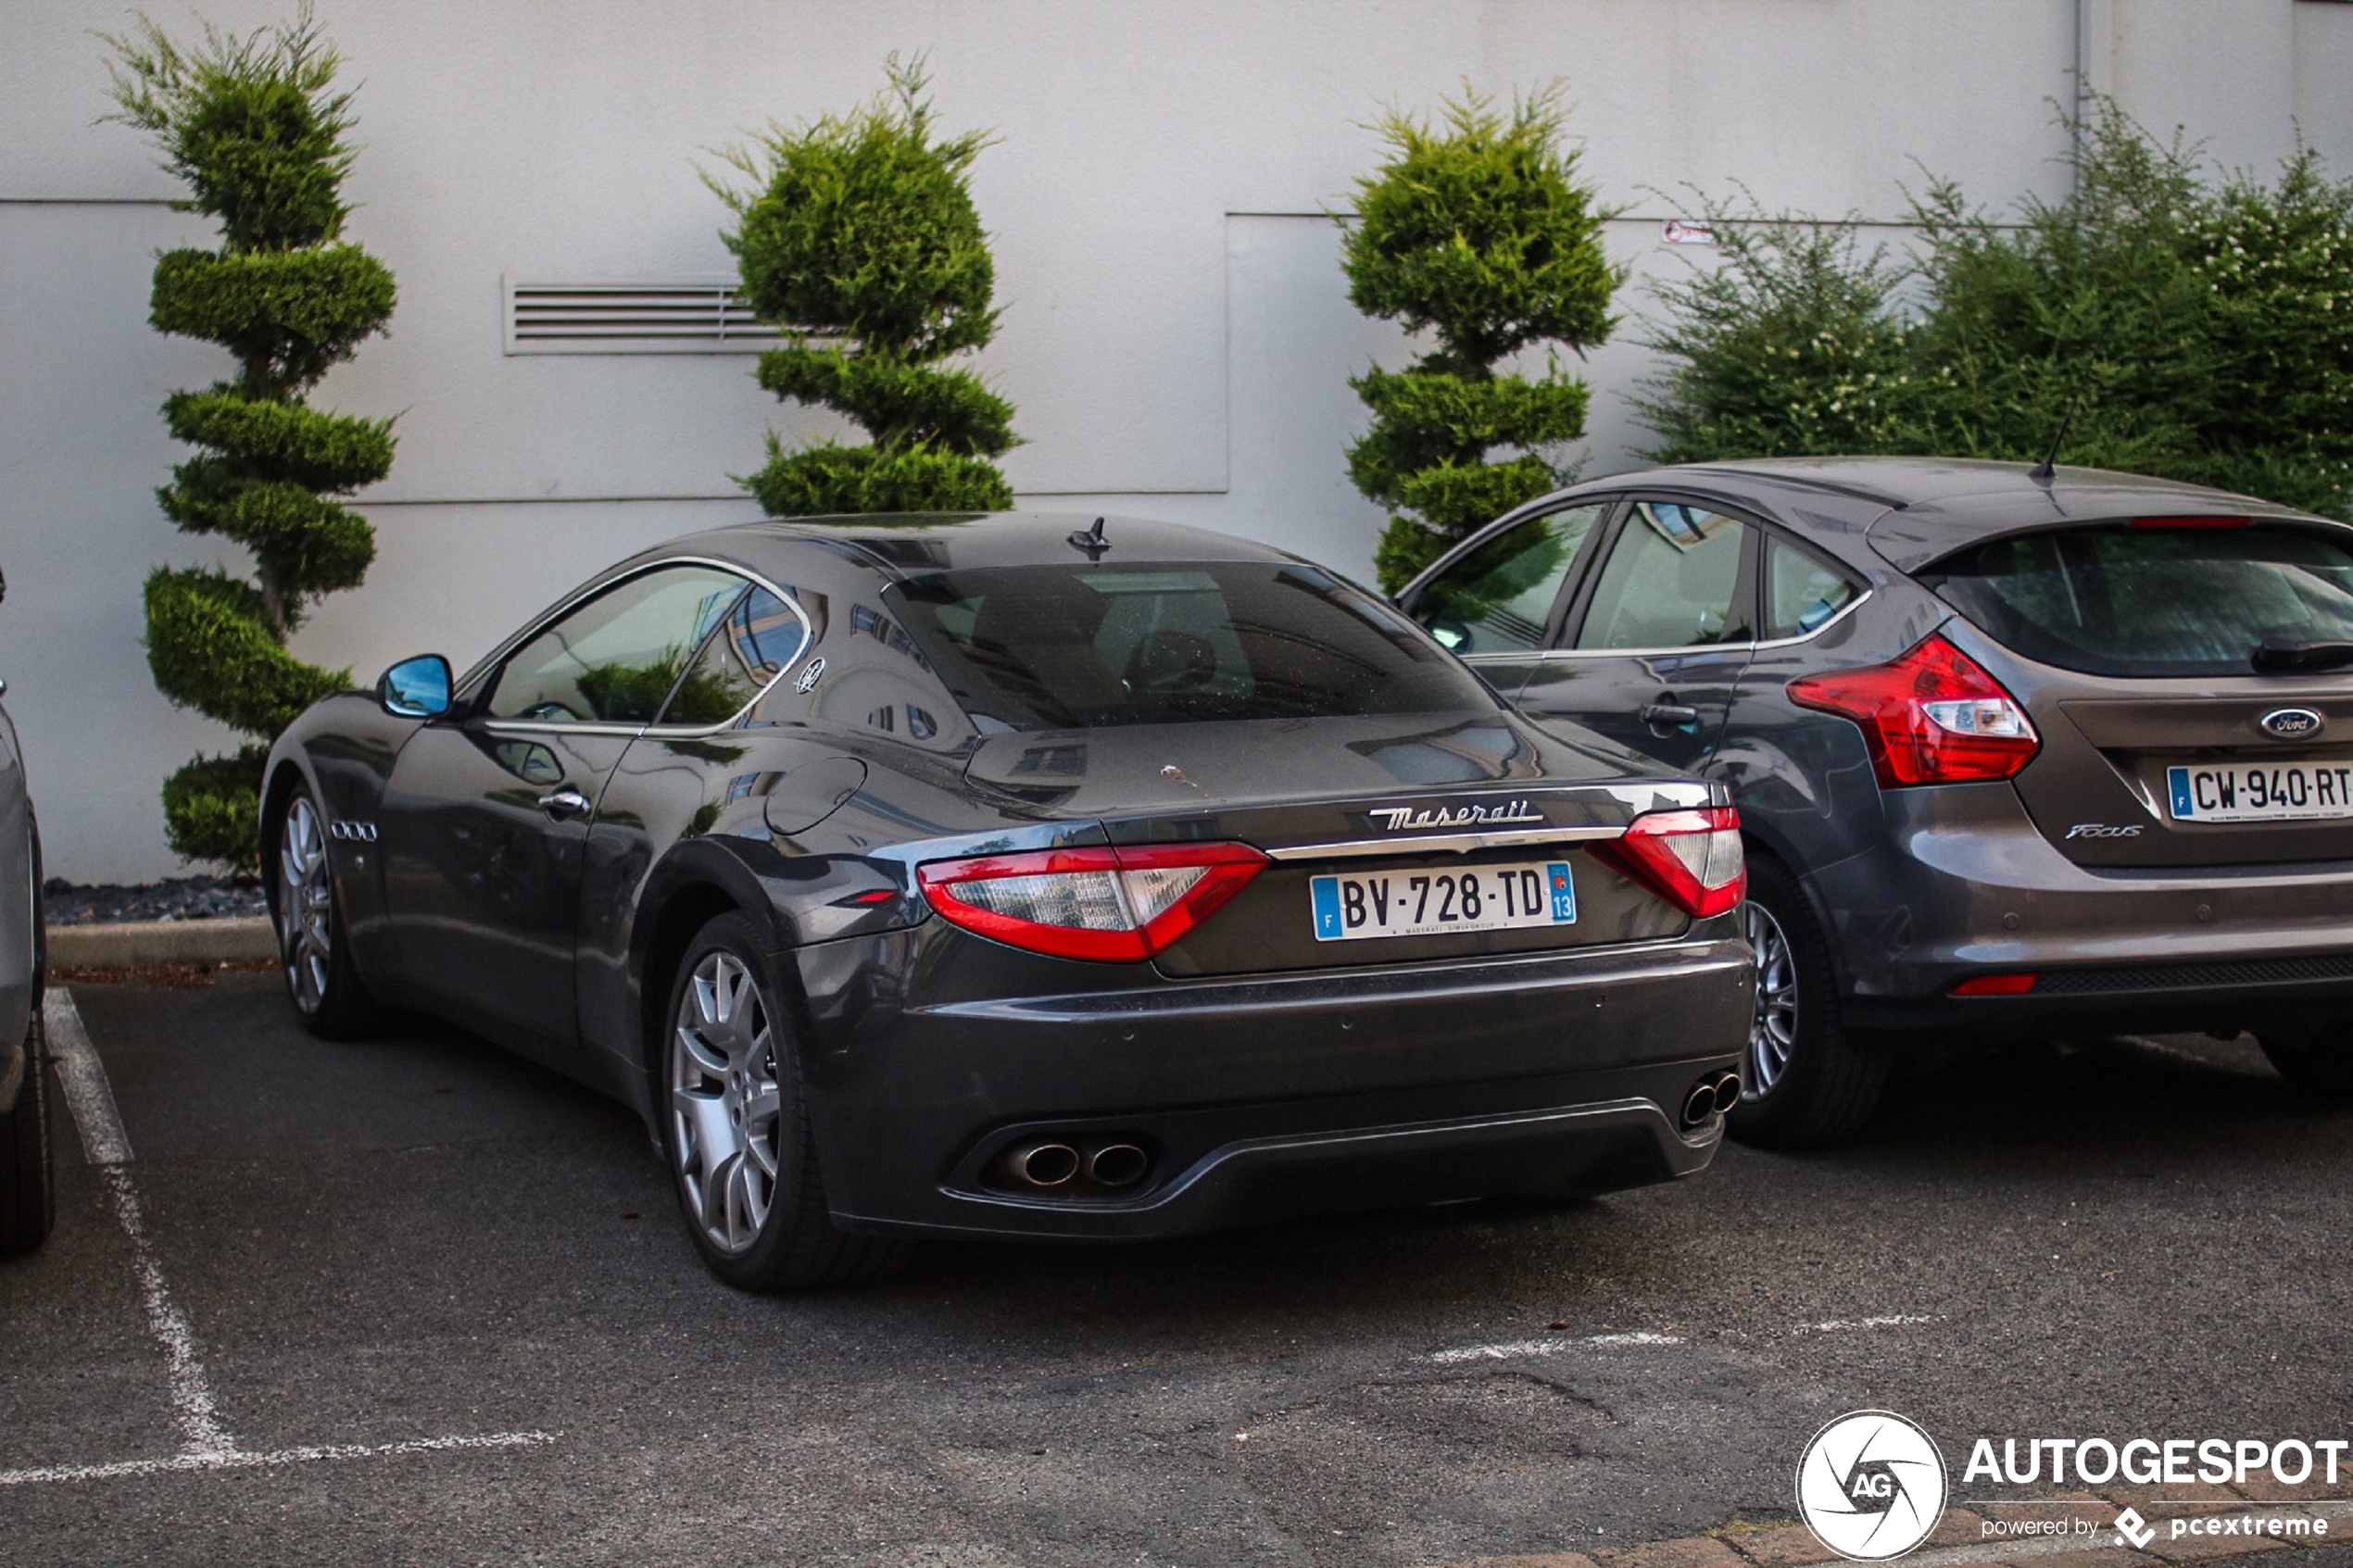
<instances>
[{"instance_id":1,"label":"white T-shaped parking line marking left of the Maserati","mask_svg":"<svg viewBox=\"0 0 2353 1568\"><path fill-rule=\"evenodd\" d=\"M106 1065L99 1048L82 1027L82 1013L73 1006L73 992L52 990L42 1001L42 1027L49 1037L49 1053L56 1058L56 1077L66 1088L66 1107L73 1126L82 1133L82 1154L99 1166L106 1192L115 1206L115 1222L132 1244L132 1272L139 1276L139 1300L146 1307L148 1333L162 1345L172 1385L172 1415L179 1422L181 1450L169 1460L120 1460L115 1465L40 1465L33 1469L0 1469L0 1486L24 1486L28 1481L108 1481L115 1476L160 1476L191 1469L266 1469L275 1465L308 1465L313 1460L376 1460L400 1453L438 1453L445 1448L525 1448L553 1443L553 1432L489 1432L482 1436L419 1436L400 1443L315 1443L306 1448L275 1448L254 1453L238 1448L238 1439L221 1427L219 1408L212 1399L212 1382L205 1363L195 1354L195 1331L172 1291L165 1286L162 1267L146 1234L146 1218L139 1213L139 1192L132 1187L132 1140L122 1131L122 1112L115 1107L115 1091L106 1081Z\"/></svg>"}]
</instances>

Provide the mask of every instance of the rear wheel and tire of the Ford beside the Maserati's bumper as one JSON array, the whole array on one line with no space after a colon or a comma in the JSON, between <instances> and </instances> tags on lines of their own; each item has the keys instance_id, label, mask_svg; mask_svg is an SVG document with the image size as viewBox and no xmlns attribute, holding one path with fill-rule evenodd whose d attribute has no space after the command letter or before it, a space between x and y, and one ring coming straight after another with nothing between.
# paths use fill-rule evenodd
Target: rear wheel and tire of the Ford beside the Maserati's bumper
<instances>
[{"instance_id":1,"label":"rear wheel and tire of the Ford beside the Maserati's bumper","mask_svg":"<svg viewBox=\"0 0 2353 1568\"><path fill-rule=\"evenodd\" d=\"M1887 1091L1887 1053L1840 1027L1814 905L1786 865L1751 853L1741 922L1758 950L1758 1016L1741 1058L1741 1103L1725 1131L1762 1150L1852 1138Z\"/></svg>"}]
</instances>

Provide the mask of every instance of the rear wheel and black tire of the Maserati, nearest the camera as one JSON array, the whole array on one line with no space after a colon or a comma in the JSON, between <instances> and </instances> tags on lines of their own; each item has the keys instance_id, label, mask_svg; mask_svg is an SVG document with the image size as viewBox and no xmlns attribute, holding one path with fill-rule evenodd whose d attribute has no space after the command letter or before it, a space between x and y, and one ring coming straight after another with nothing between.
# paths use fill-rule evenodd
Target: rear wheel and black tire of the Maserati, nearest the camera
<instances>
[{"instance_id":1,"label":"rear wheel and black tire of the Maserati, nearest the camera","mask_svg":"<svg viewBox=\"0 0 2353 1568\"><path fill-rule=\"evenodd\" d=\"M833 1227L800 1051L748 919L720 914L694 933L661 1018L661 1150L711 1272L739 1291L781 1293L838 1291L904 1269L911 1241Z\"/></svg>"}]
</instances>

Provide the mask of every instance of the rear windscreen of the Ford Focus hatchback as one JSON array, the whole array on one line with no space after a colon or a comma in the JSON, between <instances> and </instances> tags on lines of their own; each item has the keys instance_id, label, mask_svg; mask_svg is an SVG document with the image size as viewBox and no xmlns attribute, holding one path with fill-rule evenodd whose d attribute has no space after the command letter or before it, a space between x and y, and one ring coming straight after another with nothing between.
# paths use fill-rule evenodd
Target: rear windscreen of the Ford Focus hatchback
<instances>
[{"instance_id":1,"label":"rear windscreen of the Ford Focus hatchback","mask_svg":"<svg viewBox=\"0 0 2353 1568\"><path fill-rule=\"evenodd\" d=\"M2247 675L2266 644L2353 642L2353 550L2318 531L2021 534L1918 578L2005 646L2087 675Z\"/></svg>"}]
</instances>

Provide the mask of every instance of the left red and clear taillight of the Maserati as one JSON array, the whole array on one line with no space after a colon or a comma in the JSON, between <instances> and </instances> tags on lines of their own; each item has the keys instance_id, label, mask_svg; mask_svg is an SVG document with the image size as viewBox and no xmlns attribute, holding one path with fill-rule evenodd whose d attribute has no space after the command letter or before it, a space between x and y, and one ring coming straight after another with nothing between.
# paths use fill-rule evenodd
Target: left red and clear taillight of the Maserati
<instances>
[{"instance_id":1,"label":"left red and clear taillight of the Maserati","mask_svg":"<svg viewBox=\"0 0 2353 1568\"><path fill-rule=\"evenodd\" d=\"M1059 959L1139 964L1266 867L1249 844L1040 849L915 867L953 926Z\"/></svg>"}]
</instances>

